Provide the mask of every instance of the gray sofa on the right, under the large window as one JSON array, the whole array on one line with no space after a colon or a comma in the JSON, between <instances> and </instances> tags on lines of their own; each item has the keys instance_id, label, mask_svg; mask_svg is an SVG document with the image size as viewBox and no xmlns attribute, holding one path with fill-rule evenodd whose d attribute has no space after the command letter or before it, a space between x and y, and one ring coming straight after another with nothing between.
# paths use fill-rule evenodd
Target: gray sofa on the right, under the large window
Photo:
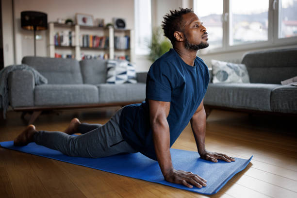
<instances>
[{"instance_id":1,"label":"gray sofa on the right, under the large window","mask_svg":"<svg viewBox=\"0 0 297 198\"><path fill-rule=\"evenodd\" d=\"M207 115L212 109L297 114L297 86L281 85L297 76L297 49L249 52L242 64L250 83L209 83L204 98Z\"/></svg>"}]
</instances>

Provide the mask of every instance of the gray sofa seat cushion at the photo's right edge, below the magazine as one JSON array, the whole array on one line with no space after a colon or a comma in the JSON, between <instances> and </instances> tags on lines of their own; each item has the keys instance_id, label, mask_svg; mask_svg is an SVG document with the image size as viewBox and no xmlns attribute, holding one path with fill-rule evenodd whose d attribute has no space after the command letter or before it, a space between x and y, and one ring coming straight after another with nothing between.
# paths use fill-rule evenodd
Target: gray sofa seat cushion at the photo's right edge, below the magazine
<instances>
[{"instance_id":1,"label":"gray sofa seat cushion at the photo's right edge, below the magazine","mask_svg":"<svg viewBox=\"0 0 297 198\"><path fill-rule=\"evenodd\" d=\"M274 112L297 113L297 86L280 85L272 90L271 109Z\"/></svg>"}]
</instances>

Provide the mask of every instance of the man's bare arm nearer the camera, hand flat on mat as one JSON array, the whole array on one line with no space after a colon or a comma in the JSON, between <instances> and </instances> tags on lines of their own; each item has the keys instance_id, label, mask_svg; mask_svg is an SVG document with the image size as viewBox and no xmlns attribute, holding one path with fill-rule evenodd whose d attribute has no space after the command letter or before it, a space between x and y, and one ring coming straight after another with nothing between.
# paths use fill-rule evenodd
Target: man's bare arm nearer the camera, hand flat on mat
<instances>
[{"instance_id":1,"label":"man's bare arm nearer the camera, hand flat on mat","mask_svg":"<svg viewBox=\"0 0 297 198\"><path fill-rule=\"evenodd\" d=\"M167 116L170 111L170 102L148 100L150 125L157 160L166 181L180 183L192 188L193 185L201 188L206 181L196 174L182 170L175 170L170 155L170 135Z\"/></svg>"}]
</instances>

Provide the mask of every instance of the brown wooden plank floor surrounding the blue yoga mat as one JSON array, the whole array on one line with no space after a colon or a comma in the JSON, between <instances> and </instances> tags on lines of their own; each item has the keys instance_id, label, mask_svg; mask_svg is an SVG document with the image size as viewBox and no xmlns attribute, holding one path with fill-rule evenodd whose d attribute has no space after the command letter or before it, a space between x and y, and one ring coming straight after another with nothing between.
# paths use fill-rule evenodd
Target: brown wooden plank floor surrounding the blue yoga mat
<instances>
[{"instance_id":1,"label":"brown wooden plank floor surrounding the blue yoga mat","mask_svg":"<svg viewBox=\"0 0 297 198\"><path fill-rule=\"evenodd\" d=\"M116 109L50 113L34 124L37 130L63 131L75 116L103 124ZM13 140L23 129L20 113L9 112L0 122L0 141ZM254 155L214 196L0 148L0 198L297 198L297 117L215 110L206 129L208 150L245 159ZM173 148L196 150L189 125Z\"/></svg>"}]
</instances>

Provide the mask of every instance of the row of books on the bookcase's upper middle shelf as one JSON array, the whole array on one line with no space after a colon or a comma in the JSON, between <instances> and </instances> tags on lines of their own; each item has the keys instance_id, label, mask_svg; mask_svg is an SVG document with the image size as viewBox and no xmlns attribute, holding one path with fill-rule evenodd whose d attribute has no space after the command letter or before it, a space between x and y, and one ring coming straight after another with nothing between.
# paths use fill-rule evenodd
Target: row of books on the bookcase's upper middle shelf
<instances>
[{"instance_id":1,"label":"row of books on the bookcase's upper middle shelf","mask_svg":"<svg viewBox=\"0 0 297 198\"><path fill-rule=\"evenodd\" d=\"M80 35L80 46L83 48L108 48L108 36L98 36L91 34Z\"/></svg>"}]
</instances>

